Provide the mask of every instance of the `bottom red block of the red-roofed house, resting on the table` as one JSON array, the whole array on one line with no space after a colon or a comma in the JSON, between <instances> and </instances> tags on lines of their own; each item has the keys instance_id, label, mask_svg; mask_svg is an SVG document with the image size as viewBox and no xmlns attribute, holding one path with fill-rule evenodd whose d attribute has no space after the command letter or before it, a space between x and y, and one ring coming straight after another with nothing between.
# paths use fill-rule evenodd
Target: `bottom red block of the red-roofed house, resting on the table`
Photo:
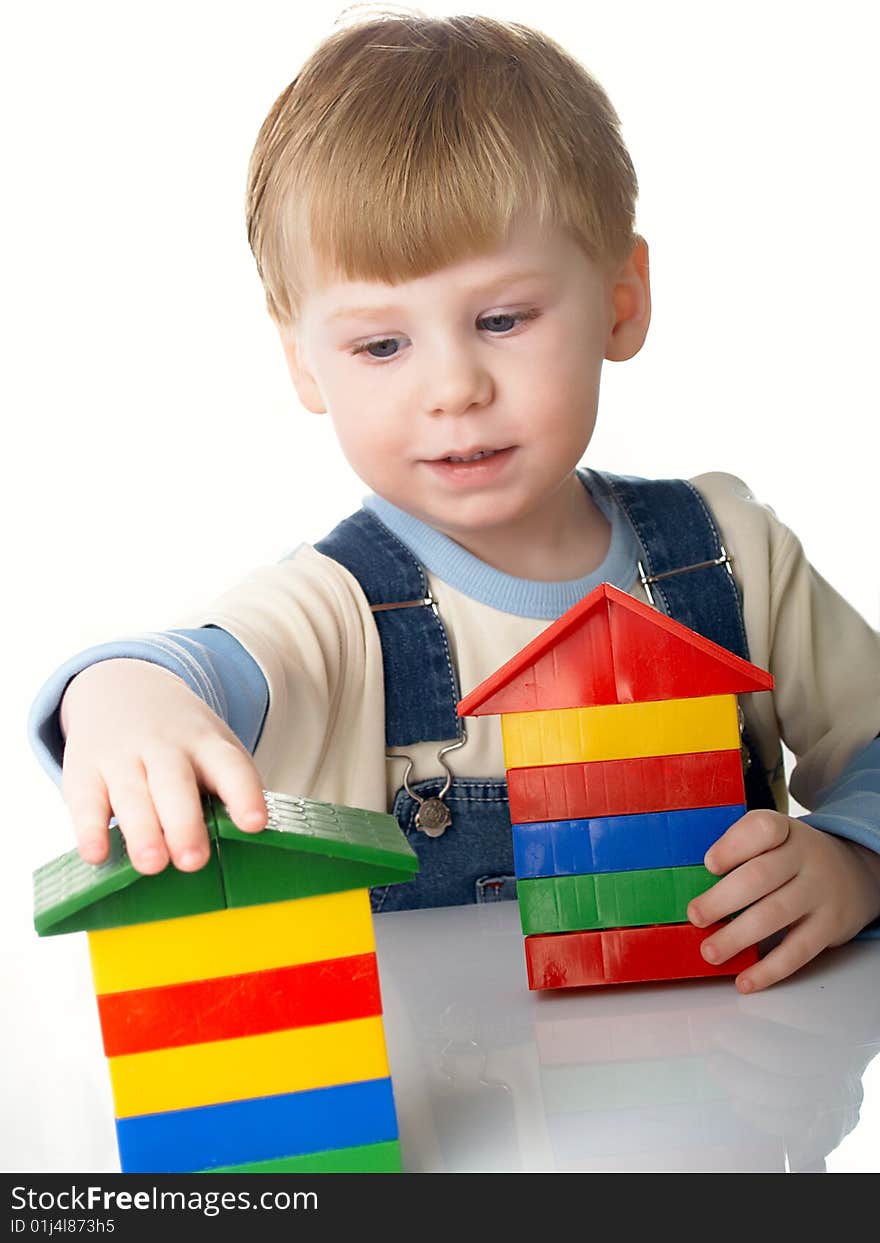
<instances>
[{"instance_id":1,"label":"bottom red block of the red-roofed house, resting on the table","mask_svg":"<svg viewBox=\"0 0 880 1243\"><path fill-rule=\"evenodd\" d=\"M736 976L758 961L751 946L718 966L700 946L721 924L655 924L644 929L603 929L595 932L551 932L525 940L528 987L580 988L588 984L631 984L650 979Z\"/></svg>"}]
</instances>

